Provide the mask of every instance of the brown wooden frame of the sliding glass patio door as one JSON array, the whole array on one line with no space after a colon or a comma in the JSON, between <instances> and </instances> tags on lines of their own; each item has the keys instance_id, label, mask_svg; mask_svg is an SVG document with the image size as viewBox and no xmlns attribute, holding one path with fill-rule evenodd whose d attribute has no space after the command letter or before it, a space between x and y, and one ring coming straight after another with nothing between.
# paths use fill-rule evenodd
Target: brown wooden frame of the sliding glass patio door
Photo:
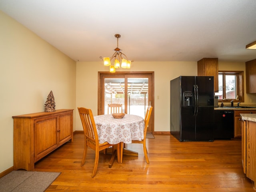
<instances>
[{"instance_id":1,"label":"brown wooden frame of the sliding glass patio door","mask_svg":"<svg viewBox=\"0 0 256 192\"><path fill-rule=\"evenodd\" d=\"M98 115L104 114L104 99L105 99L105 78L124 78L127 83L127 78L148 78L148 101L153 107L148 132L154 133L154 72L98 72ZM125 89L124 108L127 113L126 106L128 105L128 92Z\"/></svg>"}]
</instances>

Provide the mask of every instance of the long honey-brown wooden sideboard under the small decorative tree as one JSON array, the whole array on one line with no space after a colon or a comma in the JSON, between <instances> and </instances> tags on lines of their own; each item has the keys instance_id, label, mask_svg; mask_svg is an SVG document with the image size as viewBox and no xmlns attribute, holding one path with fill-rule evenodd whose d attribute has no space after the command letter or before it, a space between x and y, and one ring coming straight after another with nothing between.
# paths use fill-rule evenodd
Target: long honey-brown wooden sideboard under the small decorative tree
<instances>
[{"instance_id":1,"label":"long honey-brown wooden sideboard under the small decorative tree","mask_svg":"<svg viewBox=\"0 0 256 192\"><path fill-rule=\"evenodd\" d=\"M14 170L34 170L34 163L73 141L73 109L13 116Z\"/></svg>"}]
</instances>

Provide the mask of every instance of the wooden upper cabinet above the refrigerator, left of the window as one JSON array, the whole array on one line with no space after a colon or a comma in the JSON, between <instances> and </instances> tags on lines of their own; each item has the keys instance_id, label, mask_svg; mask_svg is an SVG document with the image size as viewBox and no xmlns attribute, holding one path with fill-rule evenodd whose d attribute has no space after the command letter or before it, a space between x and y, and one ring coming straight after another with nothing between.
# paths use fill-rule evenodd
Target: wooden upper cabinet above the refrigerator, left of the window
<instances>
[{"instance_id":1,"label":"wooden upper cabinet above the refrigerator, left of the window","mask_svg":"<svg viewBox=\"0 0 256 192\"><path fill-rule=\"evenodd\" d=\"M218 58L202 58L197 62L198 76L214 76L214 92L218 92Z\"/></svg>"}]
</instances>

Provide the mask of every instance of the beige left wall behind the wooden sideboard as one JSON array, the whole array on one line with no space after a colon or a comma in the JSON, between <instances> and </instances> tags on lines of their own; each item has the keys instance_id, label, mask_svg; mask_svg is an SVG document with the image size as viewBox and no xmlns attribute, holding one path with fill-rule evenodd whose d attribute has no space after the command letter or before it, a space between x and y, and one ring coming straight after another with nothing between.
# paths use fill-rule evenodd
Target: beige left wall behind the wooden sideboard
<instances>
[{"instance_id":1,"label":"beige left wall behind the wooden sideboard","mask_svg":"<svg viewBox=\"0 0 256 192\"><path fill-rule=\"evenodd\" d=\"M0 173L13 166L12 116L76 107L76 62L0 11Z\"/></svg>"}]
</instances>

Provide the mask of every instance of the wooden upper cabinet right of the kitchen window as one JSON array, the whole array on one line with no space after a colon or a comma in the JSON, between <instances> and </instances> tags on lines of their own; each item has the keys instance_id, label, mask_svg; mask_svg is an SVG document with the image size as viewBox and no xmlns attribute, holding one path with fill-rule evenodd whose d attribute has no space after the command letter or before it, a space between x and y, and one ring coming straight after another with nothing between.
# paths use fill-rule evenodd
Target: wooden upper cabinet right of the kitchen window
<instances>
[{"instance_id":1,"label":"wooden upper cabinet right of the kitchen window","mask_svg":"<svg viewBox=\"0 0 256 192\"><path fill-rule=\"evenodd\" d=\"M256 93L256 59L245 62L246 93Z\"/></svg>"}]
</instances>

